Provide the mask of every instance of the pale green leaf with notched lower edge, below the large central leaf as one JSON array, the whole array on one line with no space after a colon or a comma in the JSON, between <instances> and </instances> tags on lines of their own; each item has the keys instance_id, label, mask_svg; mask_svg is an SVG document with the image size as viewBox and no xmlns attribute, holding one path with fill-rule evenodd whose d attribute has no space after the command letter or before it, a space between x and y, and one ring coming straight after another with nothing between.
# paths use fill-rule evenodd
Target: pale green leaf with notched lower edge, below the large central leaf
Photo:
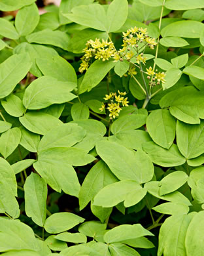
<instances>
[{"instance_id":1,"label":"pale green leaf with notched lower edge, below the large central leaf","mask_svg":"<svg viewBox=\"0 0 204 256\"><path fill-rule=\"evenodd\" d=\"M119 181L99 190L94 198L93 205L112 207L120 202L124 202L125 207L130 207L139 203L145 195L146 189L138 182Z\"/></svg>"}]
</instances>

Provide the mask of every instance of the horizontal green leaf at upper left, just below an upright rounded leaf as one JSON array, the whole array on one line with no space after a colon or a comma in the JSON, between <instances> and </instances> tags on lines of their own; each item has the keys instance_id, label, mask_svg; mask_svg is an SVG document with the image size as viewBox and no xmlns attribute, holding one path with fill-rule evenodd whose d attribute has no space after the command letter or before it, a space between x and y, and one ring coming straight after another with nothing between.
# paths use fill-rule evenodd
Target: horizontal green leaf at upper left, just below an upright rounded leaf
<instances>
[{"instance_id":1,"label":"horizontal green leaf at upper left, just below an upright rounded leaf","mask_svg":"<svg viewBox=\"0 0 204 256\"><path fill-rule=\"evenodd\" d=\"M65 32L50 29L31 33L26 36L29 43L40 43L42 45L54 45L65 51L68 51L70 37Z\"/></svg>"}]
</instances>

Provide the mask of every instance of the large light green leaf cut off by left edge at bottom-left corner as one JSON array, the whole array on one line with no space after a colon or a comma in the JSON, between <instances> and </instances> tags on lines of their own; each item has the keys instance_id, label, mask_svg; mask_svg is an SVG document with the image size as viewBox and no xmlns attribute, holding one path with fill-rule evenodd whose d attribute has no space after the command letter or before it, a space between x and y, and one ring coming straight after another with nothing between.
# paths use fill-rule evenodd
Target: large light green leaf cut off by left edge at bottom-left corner
<instances>
[{"instance_id":1,"label":"large light green leaf cut off by left edge at bottom-left corner","mask_svg":"<svg viewBox=\"0 0 204 256\"><path fill-rule=\"evenodd\" d=\"M4 217L0 218L0 223L0 251L11 249L38 251L40 249L33 230L26 224Z\"/></svg>"}]
</instances>

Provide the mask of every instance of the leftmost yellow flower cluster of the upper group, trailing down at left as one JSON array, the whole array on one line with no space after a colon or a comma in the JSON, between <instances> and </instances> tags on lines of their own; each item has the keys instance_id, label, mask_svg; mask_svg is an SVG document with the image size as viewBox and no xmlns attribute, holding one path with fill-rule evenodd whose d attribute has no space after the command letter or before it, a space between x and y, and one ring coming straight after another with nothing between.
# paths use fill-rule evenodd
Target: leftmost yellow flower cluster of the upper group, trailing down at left
<instances>
[{"instance_id":1,"label":"leftmost yellow flower cluster of the upper group, trailing down at left","mask_svg":"<svg viewBox=\"0 0 204 256\"><path fill-rule=\"evenodd\" d=\"M90 66L90 61L92 58L98 59L98 60L109 60L114 54L116 53L116 49L114 47L114 44L112 41L105 41L102 39L102 42L100 39L89 40L86 43L86 48L84 49L84 56L82 56L81 60L82 63L80 64L80 68L78 71L80 73L84 72L84 70L88 70L88 67Z\"/></svg>"}]
</instances>

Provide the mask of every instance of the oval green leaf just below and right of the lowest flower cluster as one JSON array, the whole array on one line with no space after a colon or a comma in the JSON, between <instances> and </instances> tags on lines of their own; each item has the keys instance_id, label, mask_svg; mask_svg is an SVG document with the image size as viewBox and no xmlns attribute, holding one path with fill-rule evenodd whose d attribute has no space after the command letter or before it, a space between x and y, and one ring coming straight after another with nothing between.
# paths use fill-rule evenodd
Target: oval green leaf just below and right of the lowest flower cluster
<instances>
[{"instance_id":1,"label":"oval green leaf just below and right of the lowest flower cluster","mask_svg":"<svg viewBox=\"0 0 204 256\"><path fill-rule=\"evenodd\" d=\"M145 114L131 114L127 116L122 116L116 119L112 125L110 131L112 134L116 135L122 131L135 130L146 123Z\"/></svg>"}]
</instances>

